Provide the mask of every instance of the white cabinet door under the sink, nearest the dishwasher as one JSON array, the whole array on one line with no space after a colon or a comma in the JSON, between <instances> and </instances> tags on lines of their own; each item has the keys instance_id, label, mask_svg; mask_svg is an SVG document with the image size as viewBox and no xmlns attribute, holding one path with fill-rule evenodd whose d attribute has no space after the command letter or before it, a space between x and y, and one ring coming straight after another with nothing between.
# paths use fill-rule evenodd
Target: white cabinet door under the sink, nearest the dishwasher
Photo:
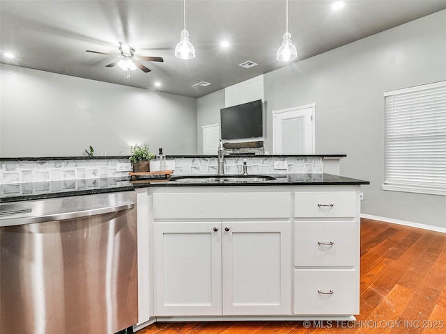
<instances>
[{"instance_id":1,"label":"white cabinet door under the sink, nearest the dishwasher","mask_svg":"<svg viewBox=\"0 0 446 334\"><path fill-rule=\"evenodd\" d=\"M221 235L221 223L153 223L155 316L222 314Z\"/></svg>"}]
</instances>

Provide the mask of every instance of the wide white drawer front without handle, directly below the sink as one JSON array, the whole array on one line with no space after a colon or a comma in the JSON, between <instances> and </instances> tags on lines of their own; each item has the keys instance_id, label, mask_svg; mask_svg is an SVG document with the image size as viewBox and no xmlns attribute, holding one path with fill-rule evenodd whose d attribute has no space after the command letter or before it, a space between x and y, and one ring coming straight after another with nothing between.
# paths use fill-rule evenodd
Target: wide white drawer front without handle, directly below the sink
<instances>
[{"instance_id":1,"label":"wide white drawer front without handle, directly below the sink","mask_svg":"<svg viewBox=\"0 0 446 334\"><path fill-rule=\"evenodd\" d=\"M291 193L154 193L153 218L287 218Z\"/></svg>"}]
</instances>

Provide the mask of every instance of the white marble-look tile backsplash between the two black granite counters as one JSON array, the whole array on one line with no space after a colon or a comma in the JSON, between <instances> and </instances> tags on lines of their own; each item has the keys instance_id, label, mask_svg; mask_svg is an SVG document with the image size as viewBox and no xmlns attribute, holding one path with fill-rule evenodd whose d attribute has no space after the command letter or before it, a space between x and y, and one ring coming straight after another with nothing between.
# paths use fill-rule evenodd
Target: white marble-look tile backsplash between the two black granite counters
<instances>
[{"instance_id":1,"label":"white marble-look tile backsplash between the two black granite counters","mask_svg":"<svg viewBox=\"0 0 446 334\"><path fill-rule=\"evenodd\" d=\"M243 173L243 159L247 159L249 174L277 173L323 173L323 157L225 157L224 173L237 175ZM274 161L287 161L288 170L275 170ZM73 159L44 161L1 161L0 184L24 182L63 181L61 189L85 189L107 182L110 177L127 177L128 172L118 172L116 163L128 159ZM217 157L178 157L171 158L167 165L174 175L217 174ZM84 180L82 183L74 180ZM49 184L48 184L49 186ZM53 186L53 185L52 185ZM55 185L54 185L55 186ZM44 186L45 187L45 186ZM20 193L20 186L3 187L3 193Z\"/></svg>"}]
</instances>

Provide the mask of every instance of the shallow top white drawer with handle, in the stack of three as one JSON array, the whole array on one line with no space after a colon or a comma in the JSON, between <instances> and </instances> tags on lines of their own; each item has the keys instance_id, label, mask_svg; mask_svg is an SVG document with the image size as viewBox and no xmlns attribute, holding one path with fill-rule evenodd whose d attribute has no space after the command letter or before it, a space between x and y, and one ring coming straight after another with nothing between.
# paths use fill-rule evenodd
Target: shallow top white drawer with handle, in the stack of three
<instances>
[{"instance_id":1,"label":"shallow top white drawer with handle, in the stack of three","mask_svg":"<svg viewBox=\"0 0 446 334\"><path fill-rule=\"evenodd\" d=\"M355 191L295 192L295 217L354 217Z\"/></svg>"}]
</instances>

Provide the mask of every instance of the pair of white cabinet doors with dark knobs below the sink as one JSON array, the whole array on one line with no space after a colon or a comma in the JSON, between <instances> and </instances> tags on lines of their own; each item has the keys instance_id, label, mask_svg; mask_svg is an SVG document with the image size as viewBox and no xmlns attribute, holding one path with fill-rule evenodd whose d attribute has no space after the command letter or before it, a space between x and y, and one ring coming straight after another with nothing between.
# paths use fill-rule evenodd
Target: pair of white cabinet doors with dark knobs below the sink
<instances>
[{"instance_id":1,"label":"pair of white cabinet doors with dark knobs below the sink","mask_svg":"<svg viewBox=\"0 0 446 334\"><path fill-rule=\"evenodd\" d=\"M290 314L290 224L154 223L155 315Z\"/></svg>"}]
</instances>

